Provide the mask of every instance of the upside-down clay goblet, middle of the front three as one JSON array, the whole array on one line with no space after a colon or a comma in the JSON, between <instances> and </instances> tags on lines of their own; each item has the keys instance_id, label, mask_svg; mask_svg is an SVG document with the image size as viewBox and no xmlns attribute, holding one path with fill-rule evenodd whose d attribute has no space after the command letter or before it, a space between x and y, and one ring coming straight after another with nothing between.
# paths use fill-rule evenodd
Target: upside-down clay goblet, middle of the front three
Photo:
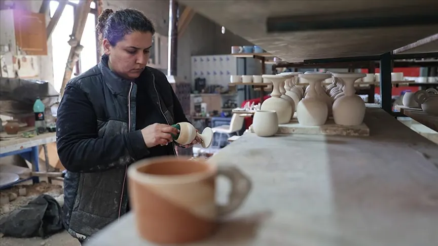
<instances>
[{"instance_id":1,"label":"upside-down clay goblet, middle of the front three","mask_svg":"<svg viewBox=\"0 0 438 246\"><path fill-rule=\"evenodd\" d=\"M329 108L327 104L318 96L315 86L322 83L322 80L330 78L331 74L309 73L299 74L300 79L309 83L309 91L304 99L298 103L297 118L303 126L322 126L327 120Z\"/></svg>"}]
</instances>

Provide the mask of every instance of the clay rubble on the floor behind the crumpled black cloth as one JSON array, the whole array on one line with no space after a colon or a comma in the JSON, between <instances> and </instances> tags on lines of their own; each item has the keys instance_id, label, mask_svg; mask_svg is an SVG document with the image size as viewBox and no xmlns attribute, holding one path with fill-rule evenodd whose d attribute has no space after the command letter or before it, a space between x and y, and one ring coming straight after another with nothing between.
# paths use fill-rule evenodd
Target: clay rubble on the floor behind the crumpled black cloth
<instances>
[{"instance_id":1,"label":"clay rubble on the floor behind the crumpled black cloth","mask_svg":"<svg viewBox=\"0 0 438 246\"><path fill-rule=\"evenodd\" d=\"M10 212L27 205L29 201L39 195L47 194L53 196L58 203L63 203L63 188L61 185L41 182L32 185L17 185L9 189L0 191L0 218L8 215ZM62 201L61 201L62 200ZM60 204L62 207L63 204Z\"/></svg>"}]
</instances>

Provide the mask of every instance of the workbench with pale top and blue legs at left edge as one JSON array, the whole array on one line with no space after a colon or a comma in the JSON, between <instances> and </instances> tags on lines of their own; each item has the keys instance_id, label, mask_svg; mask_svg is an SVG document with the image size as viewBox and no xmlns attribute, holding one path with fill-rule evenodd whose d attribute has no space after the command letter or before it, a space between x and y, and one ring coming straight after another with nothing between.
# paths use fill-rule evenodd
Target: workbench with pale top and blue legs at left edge
<instances>
[{"instance_id":1,"label":"workbench with pale top and blue legs at left edge","mask_svg":"<svg viewBox=\"0 0 438 246\"><path fill-rule=\"evenodd\" d=\"M0 141L0 157L19 154L24 159L32 163L32 171L38 172L39 169L39 146L45 147L46 167L48 166L48 158L46 151L46 144L56 142L56 133L45 133L32 138L16 138L11 140ZM38 177L30 177L27 179L20 179L12 184L0 186L0 189L11 187L15 184L32 180L33 183L38 183Z\"/></svg>"}]
</instances>

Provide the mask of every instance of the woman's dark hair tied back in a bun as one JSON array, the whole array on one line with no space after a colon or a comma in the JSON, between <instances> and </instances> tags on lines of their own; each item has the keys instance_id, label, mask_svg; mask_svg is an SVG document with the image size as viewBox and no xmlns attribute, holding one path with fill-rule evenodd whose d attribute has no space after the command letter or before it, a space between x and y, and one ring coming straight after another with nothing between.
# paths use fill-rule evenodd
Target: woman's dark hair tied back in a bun
<instances>
[{"instance_id":1,"label":"woman's dark hair tied back in a bun","mask_svg":"<svg viewBox=\"0 0 438 246\"><path fill-rule=\"evenodd\" d=\"M142 12L133 9L121 9L116 12L112 9L102 11L97 18L96 31L100 39L108 39L112 46L123 39L123 36L134 31L155 34L151 20Z\"/></svg>"}]
</instances>

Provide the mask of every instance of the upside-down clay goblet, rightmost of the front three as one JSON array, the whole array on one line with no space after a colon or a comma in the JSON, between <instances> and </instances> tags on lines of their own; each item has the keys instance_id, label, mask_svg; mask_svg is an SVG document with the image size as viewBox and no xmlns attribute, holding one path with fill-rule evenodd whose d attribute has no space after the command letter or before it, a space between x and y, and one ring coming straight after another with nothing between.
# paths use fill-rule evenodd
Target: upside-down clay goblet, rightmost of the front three
<instances>
[{"instance_id":1,"label":"upside-down clay goblet, rightmost of the front three","mask_svg":"<svg viewBox=\"0 0 438 246\"><path fill-rule=\"evenodd\" d=\"M344 95L333 103L333 119L337 125L357 126L365 116L365 102L356 95L354 81L366 76L365 73L333 73L344 82Z\"/></svg>"}]
</instances>

